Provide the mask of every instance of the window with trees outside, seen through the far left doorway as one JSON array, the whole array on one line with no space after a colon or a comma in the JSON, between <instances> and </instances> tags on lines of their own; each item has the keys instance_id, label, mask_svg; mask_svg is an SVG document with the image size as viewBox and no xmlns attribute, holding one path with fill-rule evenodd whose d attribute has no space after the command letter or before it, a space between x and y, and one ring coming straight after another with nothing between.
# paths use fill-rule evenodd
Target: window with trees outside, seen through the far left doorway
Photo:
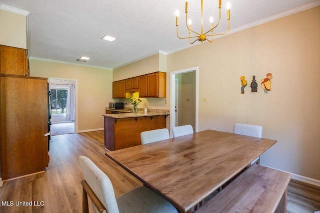
<instances>
[{"instance_id":1,"label":"window with trees outside, seen through the far left doorway","mask_svg":"<svg viewBox=\"0 0 320 213\"><path fill-rule=\"evenodd\" d=\"M67 89L51 89L51 115L66 113L67 94Z\"/></svg>"}]
</instances>

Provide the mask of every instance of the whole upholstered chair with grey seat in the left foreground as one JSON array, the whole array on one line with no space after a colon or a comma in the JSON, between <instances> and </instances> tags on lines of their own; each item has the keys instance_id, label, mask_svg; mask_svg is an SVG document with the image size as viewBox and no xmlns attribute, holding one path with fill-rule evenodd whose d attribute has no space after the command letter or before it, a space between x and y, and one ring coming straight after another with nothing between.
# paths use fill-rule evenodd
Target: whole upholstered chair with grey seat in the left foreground
<instances>
[{"instance_id":1,"label":"whole upholstered chair with grey seat in the left foreground","mask_svg":"<svg viewBox=\"0 0 320 213\"><path fill-rule=\"evenodd\" d=\"M79 157L84 176L82 212L88 213L87 195L95 213L177 213L160 195L146 187L137 187L115 198L110 179L87 157Z\"/></svg>"}]
</instances>

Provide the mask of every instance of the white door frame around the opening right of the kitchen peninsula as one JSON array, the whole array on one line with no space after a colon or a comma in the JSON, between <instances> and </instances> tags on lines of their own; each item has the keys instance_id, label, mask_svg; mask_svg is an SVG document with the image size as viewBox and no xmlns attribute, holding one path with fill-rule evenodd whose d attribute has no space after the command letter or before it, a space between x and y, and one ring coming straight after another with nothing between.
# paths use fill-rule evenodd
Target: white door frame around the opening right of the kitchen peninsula
<instances>
[{"instance_id":1,"label":"white door frame around the opening right of the kitchen peninsula","mask_svg":"<svg viewBox=\"0 0 320 213\"><path fill-rule=\"evenodd\" d=\"M199 67L190 67L186 69L170 72L170 136L172 137L172 128L175 127L175 75L195 71L195 132L199 128Z\"/></svg>"}]
</instances>

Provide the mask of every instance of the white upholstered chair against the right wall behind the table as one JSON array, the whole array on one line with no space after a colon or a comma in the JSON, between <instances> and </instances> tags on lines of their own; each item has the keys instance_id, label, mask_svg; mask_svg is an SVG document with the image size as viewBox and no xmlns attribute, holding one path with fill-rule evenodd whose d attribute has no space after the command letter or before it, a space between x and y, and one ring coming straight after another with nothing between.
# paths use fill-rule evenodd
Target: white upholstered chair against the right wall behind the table
<instances>
[{"instance_id":1,"label":"white upholstered chair against the right wall behind the table","mask_svg":"<svg viewBox=\"0 0 320 213\"><path fill-rule=\"evenodd\" d=\"M251 124L239 124L235 123L233 127L233 133L239 135L247 135L252 137L261 138L262 137L262 126L251 125ZM260 164L260 156L251 162L252 164Z\"/></svg>"}]
</instances>

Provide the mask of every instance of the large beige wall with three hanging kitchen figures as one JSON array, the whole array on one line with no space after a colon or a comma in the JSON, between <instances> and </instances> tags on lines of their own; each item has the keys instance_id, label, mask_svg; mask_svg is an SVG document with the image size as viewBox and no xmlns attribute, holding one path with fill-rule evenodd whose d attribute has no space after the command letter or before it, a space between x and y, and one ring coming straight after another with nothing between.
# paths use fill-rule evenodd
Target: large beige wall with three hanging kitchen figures
<instances>
[{"instance_id":1,"label":"large beige wall with three hanging kitchen figures","mask_svg":"<svg viewBox=\"0 0 320 213\"><path fill-rule=\"evenodd\" d=\"M320 180L319 20L317 6L168 55L168 72L199 66L199 130L262 125L277 140L262 165ZM251 93L268 72L271 91Z\"/></svg>"}]
</instances>

